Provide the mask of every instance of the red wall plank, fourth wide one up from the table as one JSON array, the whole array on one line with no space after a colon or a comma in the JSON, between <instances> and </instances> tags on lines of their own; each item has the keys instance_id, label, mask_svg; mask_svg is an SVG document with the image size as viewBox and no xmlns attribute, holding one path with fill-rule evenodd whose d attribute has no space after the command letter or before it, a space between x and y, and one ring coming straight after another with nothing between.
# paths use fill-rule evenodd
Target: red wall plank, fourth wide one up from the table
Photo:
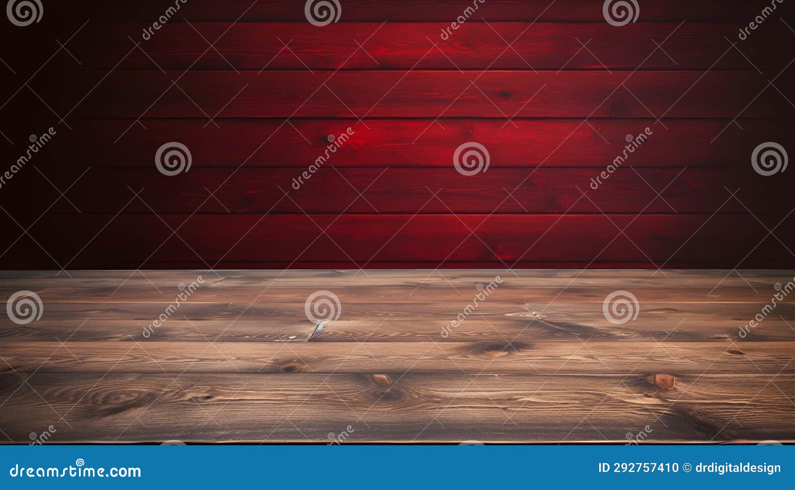
<instances>
[{"instance_id":1,"label":"red wall plank, fourth wide one up from the table","mask_svg":"<svg viewBox=\"0 0 795 490\"><path fill-rule=\"evenodd\" d=\"M786 110L782 109L786 101L781 94L766 90L768 80L778 75L774 72L636 71L628 75L622 71L528 69L481 73L338 71L330 76L320 71L114 71L73 115L735 118L779 117ZM103 76L99 72L76 74L66 80L66 90L87 94ZM178 87L173 87L177 79ZM777 81L783 87L791 86L791 72L785 71ZM122 93L124 97L119 97ZM78 102L80 98L67 102L62 110L69 111Z\"/></svg>"}]
</instances>

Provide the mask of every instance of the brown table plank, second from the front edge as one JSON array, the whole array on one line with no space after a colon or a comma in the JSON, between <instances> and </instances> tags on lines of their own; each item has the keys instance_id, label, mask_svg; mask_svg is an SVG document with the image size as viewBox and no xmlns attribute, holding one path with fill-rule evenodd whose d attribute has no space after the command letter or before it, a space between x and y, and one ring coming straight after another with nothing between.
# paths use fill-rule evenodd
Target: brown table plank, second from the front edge
<instances>
[{"instance_id":1,"label":"brown table plank, second from the front edge","mask_svg":"<svg viewBox=\"0 0 795 490\"><path fill-rule=\"evenodd\" d=\"M795 372L795 342L9 342L2 372ZM737 339L739 341L739 339Z\"/></svg>"}]
</instances>

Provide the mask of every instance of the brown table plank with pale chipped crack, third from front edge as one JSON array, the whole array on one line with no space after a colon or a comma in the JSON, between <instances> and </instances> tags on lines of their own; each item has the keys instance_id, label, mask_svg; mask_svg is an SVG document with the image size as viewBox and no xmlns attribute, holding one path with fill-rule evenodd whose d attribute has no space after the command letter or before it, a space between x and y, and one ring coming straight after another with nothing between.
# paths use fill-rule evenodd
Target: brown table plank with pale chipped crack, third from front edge
<instances>
[{"instance_id":1,"label":"brown table plank with pale chipped crack, third from front edge","mask_svg":"<svg viewBox=\"0 0 795 490\"><path fill-rule=\"evenodd\" d=\"M180 317L177 317L180 318ZM778 318L778 317L774 317ZM448 337L440 337L450 320L333 320L322 329L308 320L184 320L169 319L157 335L144 337L152 319L39 320L25 327L0 322L0 341L308 341L313 342L580 342L594 341L739 341L743 320L642 320L615 325L604 318L550 324L525 318L468 318ZM743 341L795 341L795 329L785 320L766 319L750 329Z\"/></svg>"}]
</instances>

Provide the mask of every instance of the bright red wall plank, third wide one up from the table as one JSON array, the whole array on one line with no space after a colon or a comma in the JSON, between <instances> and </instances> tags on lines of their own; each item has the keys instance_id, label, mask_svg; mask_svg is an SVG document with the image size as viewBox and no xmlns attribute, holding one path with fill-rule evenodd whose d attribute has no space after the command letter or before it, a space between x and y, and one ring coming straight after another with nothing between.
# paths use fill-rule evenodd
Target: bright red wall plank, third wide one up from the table
<instances>
[{"instance_id":1,"label":"bright red wall plank, third wide one up from the table","mask_svg":"<svg viewBox=\"0 0 795 490\"><path fill-rule=\"evenodd\" d=\"M74 128L72 137L53 139L40 155L41 159L52 161L48 176L67 173L59 172L62 152L75 152L80 162L91 168L145 168L145 175L153 176L156 173L153 155L157 148L172 140L190 141L195 165L192 171L234 169L245 162L241 172L258 167L300 168L303 172L328 145L329 134L339 135L350 127L355 133L329 162L334 167L436 167L452 171L453 152L459 145L475 140L489 150L493 170L518 167L529 173L543 163L538 172L550 167L591 167L601 172L626 145L627 134L637 134L649 127L654 133L633 155L634 167L729 167L750 171L750 154L759 141L785 141L789 135L789 125L777 119L750 118L740 121L743 129L736 125L727 128L725 120L666 119L667 130L650 118L638 121L591 118L586 124L582 119L528 120L522 114L512 123L483 118L444 118L440 125L432 124L432 119L368 119L369 129L357 125L352 118L291 118L290 124L297 130L283 120L219 118L215 122L218 127L207 120L145 118L144 129L127 120L76 120L70 122ZM723 135L710 145L723 129ZM126 136L119 138L122 133ZM266 139L266 149L255 151ZM235 145L224 144L229 141L235 141ZM86 148L95 150L83 151ZM91 178L93 172L86 177ZM488 175L486 172L479 177ZM749 173L747 178L772 184L770 179L754 175ZM785 172L778 177L786 179L787 175ZM190 176L188 172L182 177ZM71 184L75 177L74 172L68 172L63 179ZM24 176L20 174L17 178ZM161 180L149 179L149 185L163 185ZM705 182L703 187L712 188L712 185Z\"/></svg>"}]
</instances>

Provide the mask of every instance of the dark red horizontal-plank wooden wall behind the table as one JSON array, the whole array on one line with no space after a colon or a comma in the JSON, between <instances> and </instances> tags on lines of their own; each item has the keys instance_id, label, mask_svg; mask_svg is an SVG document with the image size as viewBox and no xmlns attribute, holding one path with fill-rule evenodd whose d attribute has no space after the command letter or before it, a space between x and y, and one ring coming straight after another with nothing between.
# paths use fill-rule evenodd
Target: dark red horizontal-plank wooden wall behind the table
<instances>
[{"instance_id":1,"label":"dark red horizontal-plank wooden wall behind the table","mask_svg":"<svg viewBox=\"0 0 795 490\"><path fill-rule=\"evenodd\" d=\"M0 187L0 266L795 266L795 169L752 165L795 152L787 2L630 1L626 25L602 0L334 3L0 18L0 172L55 133ZM166 176L171 142L191 166ZM456 171L469 143L486 171Z\"/></svg>"}]
</instances>

